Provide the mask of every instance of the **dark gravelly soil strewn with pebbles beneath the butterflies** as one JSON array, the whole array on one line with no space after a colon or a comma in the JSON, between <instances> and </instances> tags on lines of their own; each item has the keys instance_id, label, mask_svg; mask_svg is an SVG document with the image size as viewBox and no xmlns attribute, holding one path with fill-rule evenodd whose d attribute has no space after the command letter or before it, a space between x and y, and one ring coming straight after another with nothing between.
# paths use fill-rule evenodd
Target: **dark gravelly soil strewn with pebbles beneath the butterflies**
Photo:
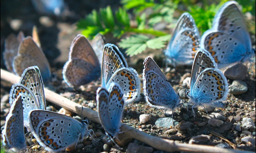
<instances>
[{"instance_id":1,"label":"dark gravelly soil strewn with pebbles beneath the butterflies","mask_svg":"<svg viewBox=\"0 0 256 153\"><path fill-rule=\"evenodd\" d=\"M93 81L74 92L73 89L67 88L62 81L61 72L64 63L68 60L71 41L79 33L79 31L76 31L75 22L83 17L84 14L90 12L92 8L98 8L100 6L88 6L83 3L78 7L80 10L83 10L81 11L82 13L77 13L78 10L76 10L74 11L74 18L60 19L36 14L32 8L31 2L28 0L24 1L22 4L20 4L20 1L15 2L17 3L14 3L15 5L12 6L7 1L1 1L1 55L4 51L4 39L7 35L10 33L18 33L18 31L15 31L14 28L10 26L11 23L13 24L14 22L15 24L17 20L20 20L22 24L19 29L24 31L26 36L31 35L32 26L37 25L42 48L50 61L54 75L54 79L51 83L52 88L50 89L83 106L96 110L95 91L92 90L100 86L100 81ZM69 4L70 2L67 1L67 3ZM71 9L72 7L75 8L73 5L70 4ZM85 5L88 7L85 7ZM82 6L86 9L83 9ZM113 5L113 7L117 6L117 4ZM42 20L46 21L43 22ZM108 36L106 36L106 40L110 43L116 43L116 40L108 38ZM149 50L136 57L126 58L128 65L138 71L141 82L143 60L147 56L153 57L156 63L159 64L159 67L167 72L165 73L166 77L177 84L182 84L182 80L191 73L191 67L164 69L162 62L163 57L155 53L156 51ZM249 64L247 64L247 66L248 65ZM6 69L2 56L1 68ZM170 120L168 121L170 117L167 115L169 112L167 111L164 115L163 110L148 106L142 93L138 101L124 108L123 123L144 131L149 135L175 140L175 142L179 143L205 144L231 149L232 147L227 142L211 133L211 131L215 131L234 143L236 149L255 151L255 62L251 65L247 73L248 75L243 80L248 86L248 90L245 93L237 95L228 94L228 99L224 102L226 104L225 109L213 109L210 111L211 108L207 108L210 116L217 120L210 119L210 117L204 113L204 109L200 108L195 110L196 118L194 120L191 106L188 107L188 111L182 106L174 111L173 118L179 123L175 127L172 127L168 124L170 123ZM228 83L233 85L234 81L228 79ZM1 80L1 131L3 130L5 117L10 110L8 97L11 86L12 84ZM175 91L182 89L178 85L173 85L173 87ZM240 90L242 87L236 87L235 89ZM90 92L82 93L81 91ZM180 91L179 94L181 98L188 101L183 91ZM47 109L56 112L61 109L59 106L52 105L49 102L47 102L47 106ZM78 119L80 118L80 115L70 114ZM124 146L122 146L124 149L120 150L115 146L112 147L112 144L107 141L105 131L99 123L92 121L89 128L93 129L95 132L97 141L95 142L90 137L87 137L84 142L77 145L76 150L70 152L135 152L136 150L140 150L140 152L141 150L143 150L143 152L163 152L134 139L125 140L123 142ZM47 152L43 147L38 145L31 133L27 134L26 137L29 153Z\"/></svg>"}]
</instances>

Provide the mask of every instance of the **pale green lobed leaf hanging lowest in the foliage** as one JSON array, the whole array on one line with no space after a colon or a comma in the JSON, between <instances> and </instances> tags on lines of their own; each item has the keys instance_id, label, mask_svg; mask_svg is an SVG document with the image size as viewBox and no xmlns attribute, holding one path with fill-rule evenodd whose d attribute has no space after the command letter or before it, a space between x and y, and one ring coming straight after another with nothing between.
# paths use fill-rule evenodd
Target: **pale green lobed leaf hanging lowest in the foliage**
<instances>
[{"instance_id":1,"label":"pale green lobed leaf hanging lowest in the foliage","mask_svg":"<svg viewBox=\"0 0 256 153\"><path fill-rule=\"evenodd\" d=\"M122 48L127 48L125 53L133 56L143 52L147 47L151 49L163 48L165 47L165 42L170 40L170 38L171 35L164 35L151 39L146 35L138 34L122 39L118 45Z\"/></svg>"}]
</instances>

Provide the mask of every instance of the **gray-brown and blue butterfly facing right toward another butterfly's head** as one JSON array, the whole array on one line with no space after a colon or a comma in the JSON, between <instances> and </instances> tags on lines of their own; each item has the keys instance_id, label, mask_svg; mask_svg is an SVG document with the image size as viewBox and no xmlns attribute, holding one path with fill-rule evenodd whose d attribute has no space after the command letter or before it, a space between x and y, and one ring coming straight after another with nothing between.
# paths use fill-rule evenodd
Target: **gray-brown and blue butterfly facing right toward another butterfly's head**
<instances>
[{"instance_id":1,"label":"gray-brown and blue butterfly facing right toward another butterfly's head","mask_svg":"<svg viewBox=\"0 0 256 153\"><path fill-rule=\"evenodd\" d=\"M181 105L179 95L176 94L156 62L149 56L144 61L142 77L144 95L149 106L173 111Z\"/></svg>"}]
</instances>

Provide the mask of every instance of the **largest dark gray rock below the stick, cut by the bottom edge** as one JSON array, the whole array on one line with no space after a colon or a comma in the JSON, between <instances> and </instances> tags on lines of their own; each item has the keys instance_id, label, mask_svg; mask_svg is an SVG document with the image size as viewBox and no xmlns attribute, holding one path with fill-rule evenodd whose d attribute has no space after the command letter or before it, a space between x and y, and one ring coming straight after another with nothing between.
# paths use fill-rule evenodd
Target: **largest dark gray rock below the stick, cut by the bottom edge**
<instances>
[{"instance_id":1,"label":"largest dark gray rock below the stick, cut by the bottom edge","mask_svg":"<svg viewBox=\"0 0 256 153\"><path fill-rule=\"evenodd\" d=\"M126 150L127 153L151 153L153 152L152 147L145 147L137 143L130 143Z\"/></svg>"}]
</instances>

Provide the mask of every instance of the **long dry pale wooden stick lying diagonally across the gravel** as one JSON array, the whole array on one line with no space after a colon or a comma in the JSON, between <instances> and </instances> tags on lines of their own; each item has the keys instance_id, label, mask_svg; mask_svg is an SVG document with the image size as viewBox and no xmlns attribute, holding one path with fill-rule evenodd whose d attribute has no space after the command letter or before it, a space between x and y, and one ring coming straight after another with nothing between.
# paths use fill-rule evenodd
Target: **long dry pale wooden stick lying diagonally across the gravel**
<instances>
[{"instance_id":1,"label":"long dry pale wooden stick lying diagonally across the gravel","mask_svg":"<svg viewBox=\"0 0 256 153\"><path fill-rule=\"evenodd\" d=\"M14 74L1 69L1 79L11 82L12 84L18 83L20 77L15 76ZM81 114L82 106L76 104L75 102L60 96L59 94L44 89L45 98L47 101L52 102L53 104L64 107L74 113ZM83 106L83 116L88 118L98 117L97 112L86 108ZM99 119L93 119L96 122L99 122ZM207 146L207 145L196 145L196 144L186 144L186 143L175 143L173 140L163 139L157 136L148 135L145 132L139 131L135 128L132 128L128 125L123 124L121 130L124 131L125 135L128 135L134 139L137 139L141 142L147 143L153 148L163 150L163 151L185 151L185 152L196 152L196 153L253 153L252 151L241 151L233 149L223 149L219 147Z\"/></svg>"}]
</instances>

